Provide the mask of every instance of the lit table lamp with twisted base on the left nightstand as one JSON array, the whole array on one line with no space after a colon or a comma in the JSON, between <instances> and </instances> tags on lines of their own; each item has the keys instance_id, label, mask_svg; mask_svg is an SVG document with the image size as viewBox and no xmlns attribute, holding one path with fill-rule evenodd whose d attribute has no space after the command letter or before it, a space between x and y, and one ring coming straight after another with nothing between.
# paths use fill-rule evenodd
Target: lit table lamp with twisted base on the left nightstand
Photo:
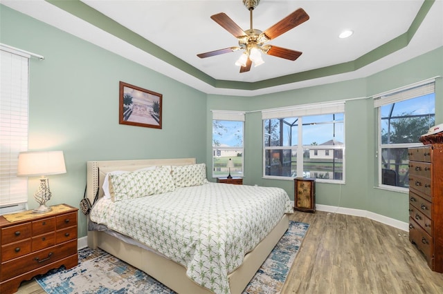
<instances>
[{"instance_id":1,"label":"lit table lamp with twisted base on the left nightstand","mask_svg":"<svg viewBox=\"0 0 443 294\"><path fill-rule=\"evenodd\" d=\"M51 199L51 190L49 189L49 179L45 176L60 173L66 173L63 151L19 153L17 177L42 176L40 178L40 186L34 194L34 198L40 206L35 208L33 213L47 213L52 210L51 207L46 206L46 202Z\"/></svg>"}]
</instances>

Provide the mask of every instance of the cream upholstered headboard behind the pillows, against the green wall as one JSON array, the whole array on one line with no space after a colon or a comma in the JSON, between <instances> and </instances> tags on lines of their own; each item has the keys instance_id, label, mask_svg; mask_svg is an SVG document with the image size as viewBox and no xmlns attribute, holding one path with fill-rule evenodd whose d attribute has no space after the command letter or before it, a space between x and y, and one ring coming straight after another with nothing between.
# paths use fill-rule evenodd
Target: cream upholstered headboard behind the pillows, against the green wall
<instances>
[{"instance_id":1,"label":"cream upholstered headboard behind the pillows, against the green wall","mask_svg":"<svg viewBox=\"0 0 443 294\"><path fill-rule=\"evenodd\" d=\"M87 197L93 203L99 187L98 197L102 197L103 190L101 187L105 175L114 170L132 171L149 166L185 166L195 163L195 158L87 161Z\"/></svg>"}]
</instances>

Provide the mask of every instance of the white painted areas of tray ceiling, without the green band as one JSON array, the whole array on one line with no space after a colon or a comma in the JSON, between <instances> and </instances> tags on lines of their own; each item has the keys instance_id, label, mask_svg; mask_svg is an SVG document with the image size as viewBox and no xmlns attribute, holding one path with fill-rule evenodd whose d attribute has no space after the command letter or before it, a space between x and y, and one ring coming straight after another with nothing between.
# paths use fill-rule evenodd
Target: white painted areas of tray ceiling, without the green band
<instances>
[{"instance_id":1,"label":"white painted areas of tray ceiling, without the green band","mask_svg":"<svg viewBox=\"0 0 443 294\"><path fill-rule=\"evenodd\" d=\"M298 8L303 8L309 14L308 21L269 41L271 45L302 51L303 54L296 61L264 55L264 64L257 68L252 67L251 71L244 73L239 73L239 67L234 65L242 54L241 51L206 59L197 57L198 53L238 45L237 39L210 19L210 16L225 12L246 30L249 28L249 12L243 6L242 0L82 0L82 2L213 79L253 83L354 61L408 31L424 1L261 0L253 10L253 27L258 30L266 30ZM46 1L2 0L1 3L198 90L224 95L260 95L366 77L443 46L443 0L437 0L408 46L363 68L339 75L301 79L258 90L235 90L216 88L207 84ZM339 39L338 34L345 29L354 30L354 35L347 39ZM44 55L44 52L35 53Z\"/></svg>"}]
</instances>

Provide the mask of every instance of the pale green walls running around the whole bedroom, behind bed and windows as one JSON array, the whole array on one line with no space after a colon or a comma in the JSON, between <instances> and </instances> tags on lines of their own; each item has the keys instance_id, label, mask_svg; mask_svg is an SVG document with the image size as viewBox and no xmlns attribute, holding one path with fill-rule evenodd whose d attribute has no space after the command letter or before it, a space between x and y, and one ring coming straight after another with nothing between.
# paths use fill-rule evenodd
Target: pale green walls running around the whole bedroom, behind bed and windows
<instances>
[{"instance_id":1,"label":"pale green walls running around the whole bedroom, behind bed and windows","mask_svg":"<svg viewBox=\"0 0 443 294\"><path fill-rule=\"evenodd\" d=\"M206 95L149 68L0 5L0 42L44 55L30 59L30 150L64 150L67 173L51 176L49 204L77 206L86 161L197 157L212 163L210 110L244 110L244 184L278 186L293 199L293 182L262 179L260 110L346 99L345 184L316 185L317 204L368 210L408 221L406 193L374 188L376 123L370 95L443 75L437 48L370 77L271 95ZM163 129L118 124L118 81L163 94ZM436 122L443 122L443 81L436 82ZM208 168L210 176L210 168ZM210 180L211 179L209 177ZM38 179L29 180L30 208ZM86 235L80 213L79 237Z\"/></svg>"}]
</instances>

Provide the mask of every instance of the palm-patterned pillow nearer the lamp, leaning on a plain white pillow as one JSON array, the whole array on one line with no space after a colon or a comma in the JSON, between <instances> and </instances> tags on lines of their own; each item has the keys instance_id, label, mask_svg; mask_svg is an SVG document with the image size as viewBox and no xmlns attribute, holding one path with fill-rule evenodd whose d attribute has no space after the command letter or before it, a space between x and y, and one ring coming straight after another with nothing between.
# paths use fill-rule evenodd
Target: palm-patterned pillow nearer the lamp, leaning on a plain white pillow
<instances>
[{"instance_id":1,"label":"palm-patterned pillow nearer the lamp, leaning on a plain white pillow","mask_svg":"<svg viewBox=\"0 0 443 294\"><path fill-rule=\"evenodd\" d=\"M109 192L113 202L134 199L154 194L149 185L152 170L140 170L131 173L110 174Z\"/></svg>"}]
</instances>

